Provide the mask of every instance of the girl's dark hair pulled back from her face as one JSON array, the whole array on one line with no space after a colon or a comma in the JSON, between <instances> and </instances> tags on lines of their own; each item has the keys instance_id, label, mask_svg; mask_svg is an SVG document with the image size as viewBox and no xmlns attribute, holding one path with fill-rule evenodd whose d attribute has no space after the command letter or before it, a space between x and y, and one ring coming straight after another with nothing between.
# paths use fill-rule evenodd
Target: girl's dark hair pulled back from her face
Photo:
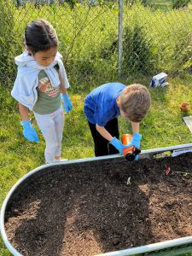
<instances>
[{"instance_id":1,"label":"girl's dark hair pulled back from her face","mask_svg":"<svg viewBox=\"0 0 192 256\"><path fill-rule=\"evenodd\" d=\"M47 20L38 19L26 26L24 44L34 54L57 46L58 38L55 29Z\"/></svg>"}]
</instances>

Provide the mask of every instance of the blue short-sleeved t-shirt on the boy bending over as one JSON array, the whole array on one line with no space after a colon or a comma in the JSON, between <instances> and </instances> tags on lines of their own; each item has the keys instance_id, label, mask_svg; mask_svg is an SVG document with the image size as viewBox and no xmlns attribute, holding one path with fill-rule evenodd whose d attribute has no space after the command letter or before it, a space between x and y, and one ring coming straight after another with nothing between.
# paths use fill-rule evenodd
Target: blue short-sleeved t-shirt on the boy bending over
<instances>
[{"instance_id":1,"label":"blue short-sleeved t-shirt on the boy bending over","mask_svg":"<svg viewBox=\"0 0 192 256\"><path fill-rule=\"evenodd\" d=\"M84 101L84 113L91 124L105 126L108 121L120 115L116 98L126 87L125 84L102 84L92 90Z\"/></svg>"}]
</instances>

